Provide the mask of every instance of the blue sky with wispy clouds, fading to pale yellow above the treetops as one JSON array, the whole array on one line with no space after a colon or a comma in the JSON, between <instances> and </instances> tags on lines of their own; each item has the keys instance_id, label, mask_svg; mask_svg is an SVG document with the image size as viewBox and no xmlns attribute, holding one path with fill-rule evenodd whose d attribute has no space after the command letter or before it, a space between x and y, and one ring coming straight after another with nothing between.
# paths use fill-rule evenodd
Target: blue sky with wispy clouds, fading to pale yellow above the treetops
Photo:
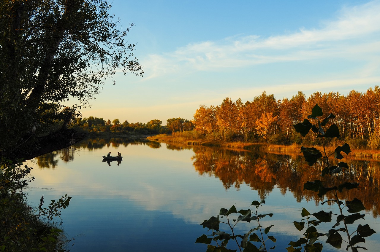
<instances>
[{"instance_id":1,"label":"blue sky with wispy clouds, fading to pale yellow above the treetops","mask_svg":"<svg viewBox=\"0 0 380 252\"><path fill-rule=\"evenodd\" d=\"M347 95L380 84L380 1L113 0L144 76L107 80L82 117L193 120L229 97Z\"/></svg>"}]
</instances>

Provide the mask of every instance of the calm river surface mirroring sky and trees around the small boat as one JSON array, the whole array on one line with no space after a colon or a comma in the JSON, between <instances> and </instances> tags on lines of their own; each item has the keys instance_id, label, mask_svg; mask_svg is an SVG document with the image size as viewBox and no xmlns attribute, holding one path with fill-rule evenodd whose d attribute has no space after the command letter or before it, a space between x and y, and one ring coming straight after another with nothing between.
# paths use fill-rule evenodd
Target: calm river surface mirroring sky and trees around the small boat
<instances>
[{"instance_id":1,"label":"calm river surface mirroring sky and trees around the small boat","mask_svg":"<svg viewBox=\"0 0 380 252\"><path fill-rule=\"evenodd\" d=\"M119 151L123 160L102 162L101 156L109 151L114 156ZM64 194L73 197L62 211L63 228L68 238L75 239L69 247L72 252L204 252L205 244L195 244L196 238L207 233L199 225L204 219L233 204L237 210L248 209L260 198L266 200L260 213L274 214L262 224L274 225L269 234L277 242L270 246L284 251L291 240L302 236L292 224L301 220L302 207L310 213L321 210L314 195L302 192L300 185L312 175L304 174L306 168L291 161L297 158L149 141L90 139L75 150L29 161L28 165L35 167L32 175L36 180L27 193L35 205L43 194L45 206ZM366 180L367 191L358 198L372 195L363 200L371 209L366 221L355 224L368 223L380 233L378 187L373 189L368 184L378 177L370 178L375 174L372 172L369 181L365 172L360 179ZM368 192L369 187L375 192ZM334 206L323 206L323 210L336 212ZM247 231L255 224L242 223L239 228ZM318 231L326 232L331 225L322 225ZM374 234L366 238L364 246L377 251L379 240ZM338 250L324 244L323 251Z\"/></svg>"}]
</instances>

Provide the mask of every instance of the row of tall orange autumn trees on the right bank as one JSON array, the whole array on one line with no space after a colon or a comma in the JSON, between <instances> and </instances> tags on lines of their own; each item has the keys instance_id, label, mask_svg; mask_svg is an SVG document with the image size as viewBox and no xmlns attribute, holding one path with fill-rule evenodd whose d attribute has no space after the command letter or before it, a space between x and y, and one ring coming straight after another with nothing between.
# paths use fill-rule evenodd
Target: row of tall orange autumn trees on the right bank
<instances>
[{"instance_id":1,"label":"row of tall orange autumn trees on the right bank","mask_svg":"<svg viewBox=\"0 0 380 252\"><path fill-rule=\"evenodd\" d=\"M195 131L209 139L301 143L302 139L294 132L293 125L302 123L315 104L336 116L332 123L338 126L341 137L346 141L350 139L356 145L369 145L372 148L379 146L378 86L369 88L365 93L352 90L348 95L316 91L306 98L299 91L290 99L276 100L274 95L267 95L263 91L253 101L245 103L240 98L236 102L225 98L218 106L199 106L194 114L193 124ZM312 137L306 139L310 140Z\"/></svg>"}]
</instances>

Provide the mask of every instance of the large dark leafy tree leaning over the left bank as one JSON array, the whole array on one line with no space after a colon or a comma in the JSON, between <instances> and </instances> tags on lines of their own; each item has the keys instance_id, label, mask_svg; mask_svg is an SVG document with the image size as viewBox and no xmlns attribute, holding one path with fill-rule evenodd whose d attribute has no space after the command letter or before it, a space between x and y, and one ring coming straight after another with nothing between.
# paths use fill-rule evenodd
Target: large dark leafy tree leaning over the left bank
<instances>
[{"instance_id":1,"label":"large dark leafy tree leaning over the left bank","mask_svg":"<svg viewBox=\"0 0 380 252\"><path fill-rule=\"evenodd\" d=\"M0 156L32 158L80 139L65 127L116 69L142 76L108 0L0 0ZM53 121L62 127L52 131Z\"/></svg>"}]
</instances>

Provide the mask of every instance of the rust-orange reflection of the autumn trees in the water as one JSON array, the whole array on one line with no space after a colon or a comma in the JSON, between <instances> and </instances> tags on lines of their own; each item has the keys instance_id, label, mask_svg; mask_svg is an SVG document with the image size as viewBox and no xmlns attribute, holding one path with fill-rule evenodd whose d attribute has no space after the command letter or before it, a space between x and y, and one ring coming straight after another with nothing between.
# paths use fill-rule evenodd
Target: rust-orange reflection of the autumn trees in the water
<instances>
[{"instance_id":1,"label":"rust-orange reflection of the autumn trees in the water","mask_svg":"<svg viewBox=\"0 0 380 252\"><path fill-rule=\"evenodd\" d=\"M201 175L218 177L225 189L231 186L239 189L242 184L247 184L264 198L274 187L278 187L282 194L290 192L297 201L315 200L316 204L329 198L329 194L321 199L315 192L303 190L306 181L323 181L320 176L323 167L320 164L310 167L304 162L303 156L217 148L197 148L194 151L195 170ZM351 168L339 175L337 181L339 184L347 181L358 182L359 188L344 190L342 197L350 200L360 198L366 208L372 209L376 216L380 209L380 162L349 160L348 163Z\"/></svg>"}]
</instances>

